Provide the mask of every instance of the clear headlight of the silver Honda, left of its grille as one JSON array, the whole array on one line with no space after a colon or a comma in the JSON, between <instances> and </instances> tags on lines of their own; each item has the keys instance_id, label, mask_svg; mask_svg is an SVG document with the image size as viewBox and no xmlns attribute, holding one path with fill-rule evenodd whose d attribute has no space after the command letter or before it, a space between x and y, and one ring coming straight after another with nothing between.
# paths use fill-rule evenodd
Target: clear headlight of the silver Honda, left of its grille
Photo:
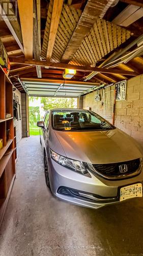
<instances>
[{"instance_id":1,"label":"clear headlight of the silver Honda, left of its grille","mask_svg":"<svg viewBox=\"0 0 143 256\"><path fill-rule=\"evenodd\" d=\"M87 174L88 171L85 168L84 164L81 161L77 161L77 160L73 160L67 157L63 157L57 153L55 153L54 151L50 150L51 153L51 158L58 162L59 164L74 170L77 173L80 174Z\"/></svg>"}]
</instances>

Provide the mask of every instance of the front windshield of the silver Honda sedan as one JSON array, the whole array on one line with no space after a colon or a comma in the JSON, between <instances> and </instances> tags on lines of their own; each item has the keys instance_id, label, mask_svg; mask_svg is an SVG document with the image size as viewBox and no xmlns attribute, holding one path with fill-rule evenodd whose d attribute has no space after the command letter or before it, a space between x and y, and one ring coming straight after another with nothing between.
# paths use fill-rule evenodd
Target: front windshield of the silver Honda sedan
<instances>
[{"instance_id":1,"label":"front windshield of the silver Honda sedan","mask_svg":"<svg viewBox=\"0 0 143 256\"><path fill-rule=\"evenodd\" d=\"M115 129L104 118L93 111L53 110L52 127L58 131L105 131Z\"/></svg>"}]
</instances>

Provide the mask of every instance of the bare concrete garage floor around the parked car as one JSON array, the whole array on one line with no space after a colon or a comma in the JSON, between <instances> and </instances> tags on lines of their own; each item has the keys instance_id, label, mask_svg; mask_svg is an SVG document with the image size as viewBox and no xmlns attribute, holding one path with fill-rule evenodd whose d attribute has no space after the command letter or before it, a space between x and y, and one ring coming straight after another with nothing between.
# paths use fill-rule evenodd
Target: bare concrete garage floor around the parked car
<instances>
[{"instance_id":1,"label":"bare concrete garage floor around the parked car","mask_svg":"<svg viewBox=\"0 0 143 256\"><path fill-rule=\"evenodd\" d=\"M52 197L39 137L21 140L1 256L143 255L142 227L143 198L93 210Z\"/></svg>"}]
</instances>

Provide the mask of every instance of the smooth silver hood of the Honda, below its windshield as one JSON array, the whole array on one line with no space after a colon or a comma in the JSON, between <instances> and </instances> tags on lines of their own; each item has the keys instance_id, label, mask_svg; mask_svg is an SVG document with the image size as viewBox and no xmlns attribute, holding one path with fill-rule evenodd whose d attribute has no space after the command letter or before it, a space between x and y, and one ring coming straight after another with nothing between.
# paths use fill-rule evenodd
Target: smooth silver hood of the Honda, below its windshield
<instances>
[{"instance_id":1,"label":"smooth silver hood of the Honda, below its windshield","mask_svg":"<svg viewBox=\"0 0 143 256\"><path fill-rule=\"evenodd\" d=\"M119 129L94 132L55 131L55 135L65 156L83 162L114 163L142 156L135 140Z\"/></svg>"}]
</instances>

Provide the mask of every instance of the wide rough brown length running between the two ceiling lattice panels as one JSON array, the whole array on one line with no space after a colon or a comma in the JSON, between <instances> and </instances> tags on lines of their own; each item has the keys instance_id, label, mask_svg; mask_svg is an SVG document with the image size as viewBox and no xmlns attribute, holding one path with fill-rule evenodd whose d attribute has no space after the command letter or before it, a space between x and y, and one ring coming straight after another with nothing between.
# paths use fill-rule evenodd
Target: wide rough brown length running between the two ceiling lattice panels
<instances>
[{"instance_id":1,"label":"wide rough brown length running between the two ceiling lattice panels","mask_svg":"<svg viewBox=\"0 0 143 256\"><path fill-rule=\"evenodd\" d=\"M96 22L96 19L101 14L106 5L104 0L88 0L79 22L70 38L69 44L63 54L62 62L69 62L77 49L80 47L82 40L89 33L90 29Z\"/></svg>"}]
</instances>

